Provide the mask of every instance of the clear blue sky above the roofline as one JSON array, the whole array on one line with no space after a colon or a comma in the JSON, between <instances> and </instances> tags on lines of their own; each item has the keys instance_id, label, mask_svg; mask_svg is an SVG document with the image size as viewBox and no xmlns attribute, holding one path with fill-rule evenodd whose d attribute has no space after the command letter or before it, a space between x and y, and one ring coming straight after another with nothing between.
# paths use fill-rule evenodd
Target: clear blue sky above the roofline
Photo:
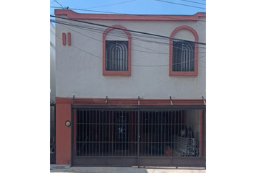
<instances>
[{"instance_id":1,"label":"clear blue sky above the roofline","mask_svg":"<svg viewBox=\"0 0 256 173\"><path fill-rule=\"evenodd\" d=\"M48 1L50 3L49 6L69 6L69 8L74 9L90 9L122 14L195 14L197 12L206 12L207 8L207 0L56 0L57 2L59 2L59 4L61 4L61 6L54 0ZM163 1L168 1L176 4L166 3ZM189 1L200 4L195 4ZM185 4L188 6L182 6L178 4ZM205 9L198 9L191 6L198 6ZM74 12L99 13L77 10L74 10ZM50 8L49 13L54 14L54 8Z\"/></svg>"}]
</instances>

